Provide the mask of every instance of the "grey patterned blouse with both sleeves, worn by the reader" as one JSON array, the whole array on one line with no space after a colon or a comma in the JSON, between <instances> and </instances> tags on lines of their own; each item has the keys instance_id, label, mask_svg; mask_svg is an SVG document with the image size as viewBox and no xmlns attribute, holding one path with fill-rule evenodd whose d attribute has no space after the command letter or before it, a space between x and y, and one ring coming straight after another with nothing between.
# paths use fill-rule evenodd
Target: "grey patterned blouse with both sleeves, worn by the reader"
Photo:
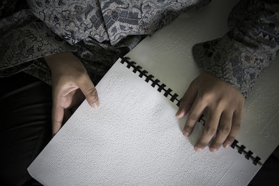
<instances>
[{"instance_id":1,"label":"grey patterned blouse with both sleeves, worn by the reader","mask_svg":"<svg viewBox=\"0 0 279 186\"><path fill-rule=\"evenodd\" d=\"M43 56L73 52L96 84L114 61L179 13L210 0L4 0L0 3L0 77L24 71L51 84ZM193 46L202 70L246 98L279 53L278 0L241 0L222 38ZM66 63L66 61L65 61Z\"/></svg>"}]
</instances>

